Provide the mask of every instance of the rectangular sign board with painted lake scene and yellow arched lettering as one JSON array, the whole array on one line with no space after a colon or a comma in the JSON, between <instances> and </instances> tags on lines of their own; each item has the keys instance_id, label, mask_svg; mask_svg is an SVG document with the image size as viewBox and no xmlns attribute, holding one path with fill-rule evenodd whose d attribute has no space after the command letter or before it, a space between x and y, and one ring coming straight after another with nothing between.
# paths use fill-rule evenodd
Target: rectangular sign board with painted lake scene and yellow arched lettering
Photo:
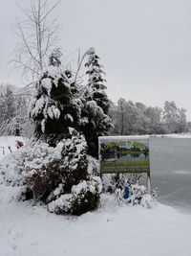
<instances>
[{"instance_id":1,"label":"rectangular sign board with painted lake scene and yellow arched lettering","mask_svg":"<svg viewBox=\"0 0 191 256\"><path fill-rule=\"evenodd\" d=\"M104 136L98 144L101 174L150 173L148 137Z\"/></svg>"}]
</instances>

